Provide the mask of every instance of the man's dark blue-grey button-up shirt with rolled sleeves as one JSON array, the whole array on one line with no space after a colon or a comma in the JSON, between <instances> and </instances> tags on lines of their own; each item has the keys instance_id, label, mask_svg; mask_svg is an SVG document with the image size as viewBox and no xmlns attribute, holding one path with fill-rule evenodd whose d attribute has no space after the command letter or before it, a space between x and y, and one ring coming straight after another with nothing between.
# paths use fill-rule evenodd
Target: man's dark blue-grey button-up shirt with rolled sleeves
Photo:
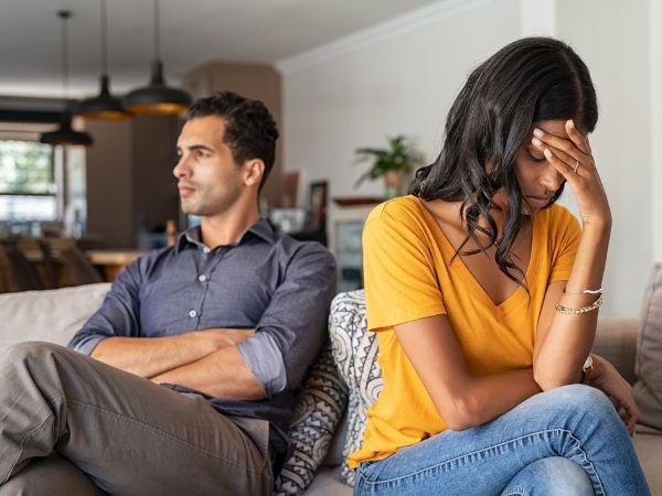
<instances>
[{"instance_id":1,"label":"man's dark blue-grey button-up shirt with rolled sleeves","mask_svg":"<svg viewBox=\"0 0 662 496\"><path fill-rule=\"evenodd\" d=\"M194 227L174 246L129 265L70 347L89 355L113 336L255 328L238 351L267 397L207 400L226 414L268 420L274 448L284 456L296 393L327 336L334 294L335 262L319 242L278 235L260 219L237 244L210 249Z\"/></svg>"}]
</instances>

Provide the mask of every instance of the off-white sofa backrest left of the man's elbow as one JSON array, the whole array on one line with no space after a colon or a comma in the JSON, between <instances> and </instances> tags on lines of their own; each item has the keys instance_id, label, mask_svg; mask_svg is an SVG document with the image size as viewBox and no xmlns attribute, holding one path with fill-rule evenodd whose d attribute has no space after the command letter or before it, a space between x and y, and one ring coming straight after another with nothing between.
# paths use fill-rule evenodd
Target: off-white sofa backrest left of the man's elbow
<instances>
[{"instance_id":1,"label":"off-white sofa backrest left of the man's elbow","mask_svg":"<svg viewBox=\"0 0 662 496\"><path fill-rule=\"evenodd\" d=\"M102 305L110 283L0 294L0 354L23 341L66 345Z\"/></svg>"}]
</instances>

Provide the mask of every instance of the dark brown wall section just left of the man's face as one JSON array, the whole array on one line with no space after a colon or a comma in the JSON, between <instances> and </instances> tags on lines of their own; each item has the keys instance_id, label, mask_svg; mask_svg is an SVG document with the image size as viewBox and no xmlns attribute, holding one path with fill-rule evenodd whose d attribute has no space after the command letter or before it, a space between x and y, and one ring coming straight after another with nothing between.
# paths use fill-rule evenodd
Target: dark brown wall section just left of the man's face
<instances>
[{"instance_id":1,"label":"dark brown wall section just left of the man's face","mask_svg":"<svg viewBox=\"0 0 662 496\"><path fill-rule=\"evenodd\" d=\"M106 248L135 248L139 228L164 229L179 217L172 168L177 117L137 116L120 122L89 120L87 233Z\"/></svg>"}]
</instances>

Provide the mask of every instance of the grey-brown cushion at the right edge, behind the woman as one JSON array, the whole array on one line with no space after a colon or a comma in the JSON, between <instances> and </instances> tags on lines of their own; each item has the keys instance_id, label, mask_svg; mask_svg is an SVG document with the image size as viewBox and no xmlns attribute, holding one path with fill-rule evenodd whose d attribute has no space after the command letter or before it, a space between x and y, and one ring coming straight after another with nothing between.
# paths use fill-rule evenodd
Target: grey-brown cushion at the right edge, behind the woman
<instances>
[{"instance_id":1,"label":"grey-brown cushion at the right edge, behind the woman","mask_svg":"<svg viewBox=\"0 0 662 496\"><path fill-rule=\"evenodd\" d=\"M634 398L641 423L662 430L662 263L653 267L643 296L637 343Z\"/></svg>"}]
</instances>

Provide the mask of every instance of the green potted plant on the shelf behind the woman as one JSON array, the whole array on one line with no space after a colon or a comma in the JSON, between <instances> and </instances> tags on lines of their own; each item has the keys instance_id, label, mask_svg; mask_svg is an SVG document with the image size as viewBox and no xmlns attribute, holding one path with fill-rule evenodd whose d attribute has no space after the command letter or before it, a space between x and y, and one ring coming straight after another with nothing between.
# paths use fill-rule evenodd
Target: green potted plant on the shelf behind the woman
<instances>
[{"instance_id":1,"label":"green potted plant on the shelf behind the woman","mask_svg":"<svg viewBox=\"0 0 662 496\"><path fill-rule=\"evenodd\" d=\"M403 134L388 138L388 148L359 148L356 163L371 162L371 169L364 173L355 186L363 181L374 181L384 177L386 198L403 194L408 174L423 161L423 157L412 145L406 143Z\"/></svg>"}]
</instances>

